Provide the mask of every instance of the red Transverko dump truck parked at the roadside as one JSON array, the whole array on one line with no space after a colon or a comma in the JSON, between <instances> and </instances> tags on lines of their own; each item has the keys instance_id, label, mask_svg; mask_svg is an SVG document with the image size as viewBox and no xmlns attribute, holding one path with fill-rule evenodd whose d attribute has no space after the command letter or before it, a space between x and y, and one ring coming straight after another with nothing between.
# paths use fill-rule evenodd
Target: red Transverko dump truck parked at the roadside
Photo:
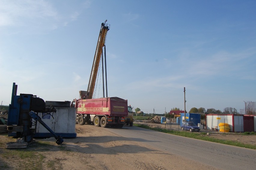
<instances>
[{"instance_id":1,"label":"red Transverko dump truck parked at the roadside","mask_svg":"<svg viewBox=\"0 0 256 170\"><path fill-rule=\"evenodd\" d=\"M78 99L72 102L76 108L77 123L93 123L101 127L118 127L124 125L125 116L128 115L127 100L118 97L99 99Z\"/></svg>"}]
</instances>

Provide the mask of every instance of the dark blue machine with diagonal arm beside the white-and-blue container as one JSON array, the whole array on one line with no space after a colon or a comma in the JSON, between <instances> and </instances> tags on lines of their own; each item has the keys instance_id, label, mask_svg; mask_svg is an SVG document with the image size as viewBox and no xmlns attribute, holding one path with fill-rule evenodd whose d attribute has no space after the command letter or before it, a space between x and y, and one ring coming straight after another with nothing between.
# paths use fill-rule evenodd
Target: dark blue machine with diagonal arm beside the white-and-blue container
<instances>
[{"instance_id":1,"label":"dark blue machine with diagonal arm beside the white-and-blue container","mask_svg":"<svg viewBox=\"0 0 256 170\"><path fill-rule=\"evenodd\" d=\"M61 144L63 139L56 135L35 112L49 113L56 112L56 110L54 107L45 108L44 100L32 94L20 94L20 96L17 96L17 85L13 83L7 121L8 136L22 137L24 142L30 143L35 133L31 127L38 121L53 134L56 143Z\"/></svg>"}]
</instances>

